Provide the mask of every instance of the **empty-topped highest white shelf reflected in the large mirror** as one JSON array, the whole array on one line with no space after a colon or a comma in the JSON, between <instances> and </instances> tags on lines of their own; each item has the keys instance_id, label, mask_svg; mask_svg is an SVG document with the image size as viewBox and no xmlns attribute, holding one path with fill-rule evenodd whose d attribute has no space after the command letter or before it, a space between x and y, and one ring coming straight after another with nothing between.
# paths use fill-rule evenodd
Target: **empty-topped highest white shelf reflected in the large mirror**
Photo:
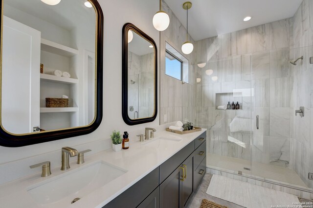
<instances>
[{"instance_id":1,"label":"empty-topped highest white shelf reflected in the large mirror","mask_svg":"<svg viewBox=\"0 0 313 208\"><path fill-rule=\"evenodd\" d=\"M78 55L78 50L41 38L41 50L65 57Z\"/></svg>"}]
</instances>

